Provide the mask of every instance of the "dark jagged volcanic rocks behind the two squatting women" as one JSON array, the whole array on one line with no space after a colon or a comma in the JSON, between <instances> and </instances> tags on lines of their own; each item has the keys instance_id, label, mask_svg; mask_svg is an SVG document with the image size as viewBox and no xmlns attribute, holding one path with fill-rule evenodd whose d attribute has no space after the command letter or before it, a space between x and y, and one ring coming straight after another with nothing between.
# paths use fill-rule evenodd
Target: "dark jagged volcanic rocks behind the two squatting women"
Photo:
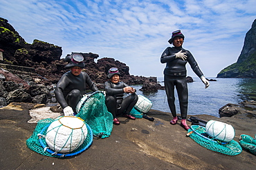
<instances>
[{"instance_id":1,"label":"dark jagged volcanic rocks behind the two squatting women","mask_svg":"<svg viewBox=\"0 0 256 170\"><path fill-rule=\"evenodd\" d=\"M62 47L37 39L32 44L26 43L8 20L0 17L0 52L0 106L12 102L56 103L55 84L69 71L64 68L68 62L60 59ZM80 54L84 56L83 71L99 89L103 89L110 67L118 67L121 81L128 85L144 85L143 91L163 89L156 77L130 75L125 63L111 58L98 59L99 55L91 52ZM146 88L147 84L150 88Z\"/></svg>"}]
</instances>

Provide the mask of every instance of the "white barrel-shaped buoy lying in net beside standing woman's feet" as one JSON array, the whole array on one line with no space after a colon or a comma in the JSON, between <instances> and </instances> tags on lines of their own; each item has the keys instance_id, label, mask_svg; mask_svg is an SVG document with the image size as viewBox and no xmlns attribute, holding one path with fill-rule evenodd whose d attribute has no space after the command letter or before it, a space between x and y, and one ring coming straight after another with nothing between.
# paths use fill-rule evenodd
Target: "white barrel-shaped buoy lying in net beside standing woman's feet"
<instances>
[{"instance_id":1,"label":"white barrel-shaped buoy lying in net beside standing woman's feet","mask_svg":"<svg viewBox=\"0 0 256 170\"><path fill-rule=\"evenodd\" d=\"M209 120L206 123L205 131L212 138L223 142L230 142L235 137L235 129L232 125L217 120Z\"/></svg>"}]
</instances>

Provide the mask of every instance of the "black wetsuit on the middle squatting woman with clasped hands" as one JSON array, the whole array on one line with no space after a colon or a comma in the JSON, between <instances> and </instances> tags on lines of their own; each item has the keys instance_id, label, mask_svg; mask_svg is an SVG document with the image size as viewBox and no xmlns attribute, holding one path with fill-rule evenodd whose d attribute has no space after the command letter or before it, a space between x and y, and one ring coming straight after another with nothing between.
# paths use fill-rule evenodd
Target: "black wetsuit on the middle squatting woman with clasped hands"
<instances>
[{"instance_id":1,"label":"black wetsuit on the middle squatting woman with clasped hands","mask_svg":"<svg viewBox=\"0 0 256 170\"><path fill-rule=\"evenodd\" d=\"M131 109L137 103L138 96L135 93L123 98L124 87L129 87L129 85L122 81L118 83L107 81L104 83L104 90L107 94L105 103L108 111L113 114L113 118L116 118L119 114L130 114Z\"/></svg>"}]
</instances>

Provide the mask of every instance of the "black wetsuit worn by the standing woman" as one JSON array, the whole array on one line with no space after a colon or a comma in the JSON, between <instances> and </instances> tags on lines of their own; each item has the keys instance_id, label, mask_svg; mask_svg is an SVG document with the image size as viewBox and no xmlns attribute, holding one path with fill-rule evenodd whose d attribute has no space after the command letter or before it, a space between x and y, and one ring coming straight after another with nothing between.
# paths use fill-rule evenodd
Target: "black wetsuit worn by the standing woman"
<instances>
[{"instance_id":1,"label":"black wetsuit worn by the standing woman","mask_svg":"<svg viewBox=\"0 0 256 170\"><path fill-rule=\"evenodd\" d=\"M175 53L181 51L185 52L187 59L176 59ZM179 105L181 109L181 117L185 119L188 114L188 85L186 82L187 70L185 65L190 63L190 66L194 73L201 77L203 73L199 69L194 56L190 51L183 49L183 47L167 47L161 56L161 63L166 63L165 70L163 72L165 81L165 92L167 94L167 101L172 111L172 116L176 116L176 108L174 105L174 86L179 96Z\"/></svg>"}]
</instances>

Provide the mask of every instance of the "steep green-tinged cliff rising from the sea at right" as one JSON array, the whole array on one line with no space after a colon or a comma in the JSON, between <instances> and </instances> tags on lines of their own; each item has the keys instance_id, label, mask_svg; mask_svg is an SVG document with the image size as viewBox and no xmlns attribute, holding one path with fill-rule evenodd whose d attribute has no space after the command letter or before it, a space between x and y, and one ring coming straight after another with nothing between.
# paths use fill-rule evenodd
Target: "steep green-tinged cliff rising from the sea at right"
<instances>
[{"instance_id":1,"label":"steep green-tinged cliff rising from the sea at right","mask_svg":"<svg viewBox=\"0 0 256 170\"><path fill-rule=\"evenodd\" d=\"M221 70L217 78L256 78L256 19L246 33L237 63Z\"/></svg>"}]
</instances>

